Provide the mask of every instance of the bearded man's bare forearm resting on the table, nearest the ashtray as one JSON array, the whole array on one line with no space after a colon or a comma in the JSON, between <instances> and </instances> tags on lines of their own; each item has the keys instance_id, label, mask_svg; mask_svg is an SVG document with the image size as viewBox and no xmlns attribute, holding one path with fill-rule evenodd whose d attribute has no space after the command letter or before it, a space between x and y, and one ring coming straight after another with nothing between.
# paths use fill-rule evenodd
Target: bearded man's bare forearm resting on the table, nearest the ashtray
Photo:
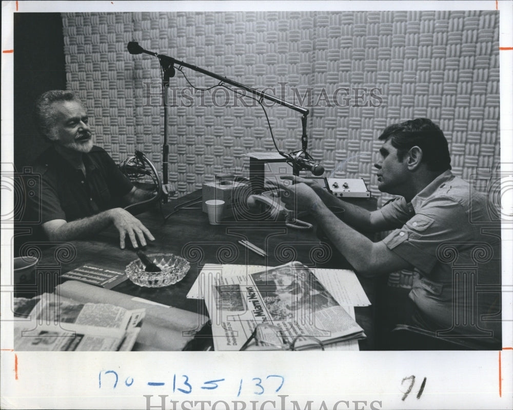
<instances>
[{"instance_id":1,"label":"bearded man's bare forearm resting on the table, nearest the ashtray","mask_svg":"<svg viewBox=\"0 0 513 410\"><path fill-rule=\"evenodd\" d=\"M65 241L91 236L112 223L111 211L107 210L83 219L66 222L58 228L45 229L51 241Z\"/></svg>"}]
</instances>

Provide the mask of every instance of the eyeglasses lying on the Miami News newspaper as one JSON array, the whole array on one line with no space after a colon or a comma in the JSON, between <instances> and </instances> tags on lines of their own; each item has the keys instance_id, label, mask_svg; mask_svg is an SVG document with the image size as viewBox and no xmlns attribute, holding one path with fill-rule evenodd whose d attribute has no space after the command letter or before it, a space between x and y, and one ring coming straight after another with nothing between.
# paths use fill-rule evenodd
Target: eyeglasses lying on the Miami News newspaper
<instances>
[{"instance_id":1,"label":"eyeglasses lying on the Miami News newspaper","mask_svg":"<svg viewBox=\"0 0 513 410\"><path fill-rule=\"evenodd\" d=\"M324 350L324 344L313 336L296 336L292 342L287 342L280 327L259 323L240 350Z\"/></svg>"}]
</instances>

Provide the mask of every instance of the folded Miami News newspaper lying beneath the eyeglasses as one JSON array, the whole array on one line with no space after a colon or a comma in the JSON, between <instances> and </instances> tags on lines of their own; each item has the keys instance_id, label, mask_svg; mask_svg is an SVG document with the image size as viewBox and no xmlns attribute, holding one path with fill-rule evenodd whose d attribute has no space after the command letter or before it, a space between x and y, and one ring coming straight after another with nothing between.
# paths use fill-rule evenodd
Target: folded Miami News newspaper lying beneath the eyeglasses
<instances>
[{"instance_id":1,"label":"folded Miami News newspaper lying beneath the eyeglasses","mask_svg":"<svg viewBox=\"0 0 513 410\"><path fill-rule=\"evenodd\" d=\"M285 343L311 337L329 345L365 337L362 327L300 262L248 274L244 284L214 283L211 290L204 296L215 350L240 350L259 323L277 326Z\"/></svg>"}]
</instances>

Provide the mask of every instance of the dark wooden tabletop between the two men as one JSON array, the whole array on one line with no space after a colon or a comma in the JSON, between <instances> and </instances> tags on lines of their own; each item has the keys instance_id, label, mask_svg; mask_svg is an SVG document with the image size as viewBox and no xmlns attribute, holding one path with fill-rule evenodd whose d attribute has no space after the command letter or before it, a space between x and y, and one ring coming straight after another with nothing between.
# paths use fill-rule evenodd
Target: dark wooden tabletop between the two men
<instances>
[{"instance_id":1,"label":"dark wooden tabletop between the two men","mask_svg":"<svg viewBox=\"0 0 513 410\"><path fill-rule=\"evenodd\" d=\"M167 215L177 205L188 200L201 200L201 191L172 200L163 206ZM376 209L375 199L354 200L368 209ZM201 208L201 203L194 205ZM185 278L165 288L142 288L126 280L112 290L192 312L207 314L203 300L187 299L186 295L205 263L251 264L277 266L299 260L308 267L350 269L348 262L338 252L333 252L327 243L321 242L313 230L298 230L276 221L248 221L225 219L222 224L210 225L206 213L201 209L182 209L164 221L162 213L155 208L137 215L155 237L148 244L146 253L173 253L188 259L191 268ZM264 249L266 257L247 250L238 243L246 239ZM52 244L49 244L52 245ZM41 253L38 272L53 273L53 280L46 284L51 291L58 282L58 273L78 268L85 263L95 263L105 268L124 270L136 259L135 252L127 242L127 249L119 247L119 234L114 227L87 240L75 240L65 244L53 244ZM50 277L51 275L47 275ZM374 300L374 284L362 281L367 296ZM41 289L40 289L41 291ZM356 308L357 322L363 327L367 339L360 341L362 350L371 350L374 345L372 306ZM208 332L205 333L208 337Z\"/></svg>"}]
</instances>

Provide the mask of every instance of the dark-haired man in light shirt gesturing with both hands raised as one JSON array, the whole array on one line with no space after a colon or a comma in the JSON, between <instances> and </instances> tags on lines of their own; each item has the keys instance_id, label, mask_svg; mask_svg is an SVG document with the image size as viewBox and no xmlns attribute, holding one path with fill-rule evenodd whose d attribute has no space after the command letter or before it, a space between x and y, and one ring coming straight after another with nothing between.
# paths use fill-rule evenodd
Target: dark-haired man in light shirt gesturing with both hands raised
<instances>
[{"instance_id":1,"label":"dark-haired man in light shirt gesturing with both hands raised","mask_svg":"<svg viewBox=\"0 0 513 410\"><path fill-rule=\"evenodd\" d=\"M501 310L501 240L487 197L452 174L447 140L431 120L391 125L379 139L378 189L396 200L369 212L291 176L282 177L292 180L280 184L287 194L282 199L291 209L308 210L358 275L413 271L403 306L411 314L402 323L435 335L460 332L483 348L500 348L501 322L492 316ZM344 208L343 220L330 211L336 206ZM378 242L360 233L390 230ZM475 282L463 283L453 273L457 266L476 267L466 276ZM490 292L473 292L474 285Z\"/></svg>"}]
</instances>

